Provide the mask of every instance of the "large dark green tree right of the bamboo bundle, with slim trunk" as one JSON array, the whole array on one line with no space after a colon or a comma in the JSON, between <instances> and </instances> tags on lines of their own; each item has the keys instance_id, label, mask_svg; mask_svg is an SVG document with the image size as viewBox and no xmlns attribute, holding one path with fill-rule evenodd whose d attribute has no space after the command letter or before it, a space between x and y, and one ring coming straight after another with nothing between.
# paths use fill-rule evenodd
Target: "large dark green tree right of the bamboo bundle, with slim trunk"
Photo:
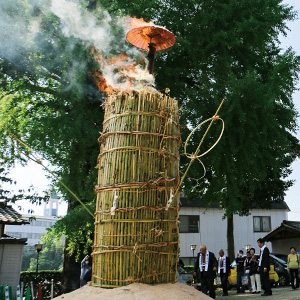
<instances>
[{"instance_id":1,"label":"large dark green tree right of the bamboo bundle, with slim trunk","mask_svg":"<svg viewBox=\"0 0 300 300\"><path fill-rule=\"evenodd\" d=\"M194 128L226 100L220 112L225 133L203 158L207 176L197 180L202 170L194 164L184 191L191 199L201 197L224 210L228 252L234 257L233 215L248 214L252 205L264 208L282 201L292 184L286 178L299 156L292 101L299 57L291 48L282 51L279 35L286 35L286 24L296 12L281 0L106 4L112 11L155 20L176 35L174 48L158 55L155 72L158 86L169 87L182 104L182 125ZM203 152L219 131L213 126ZM190 153L201 134L192 137ZM182 169L186 163L182 160Z\"/></svg>"}]
</instances>

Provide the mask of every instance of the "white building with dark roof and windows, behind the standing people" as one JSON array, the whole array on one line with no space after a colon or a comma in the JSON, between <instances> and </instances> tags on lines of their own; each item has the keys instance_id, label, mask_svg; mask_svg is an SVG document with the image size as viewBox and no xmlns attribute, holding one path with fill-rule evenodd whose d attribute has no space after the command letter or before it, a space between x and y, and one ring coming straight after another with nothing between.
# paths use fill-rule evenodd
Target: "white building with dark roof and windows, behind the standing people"
<instances>
[{"instance_id":1,"label":"white building with dark roof and windows, behind the standing people","mask_svg":"<svg viewBox=\"0 0 300 300\"><path fill-rule=\"evenodd\" d=\"M218 255L220 249L227 254L227 220L223 219L224 211L216 207L206 208L199 203L188 203L184 197L180 198L179 211L180 258L185 264L193 264L193 252L190 245L195 244L195 256L200 245L206 245L209 251ZM287 219L289 208L285 202L273 204L271 209L255 208L250 210L249 216L233 218L234 251L247 247L256 248L257 239L278 227ZM270 251L272 245L268 244Z\"/></svg>"}]
</instances>

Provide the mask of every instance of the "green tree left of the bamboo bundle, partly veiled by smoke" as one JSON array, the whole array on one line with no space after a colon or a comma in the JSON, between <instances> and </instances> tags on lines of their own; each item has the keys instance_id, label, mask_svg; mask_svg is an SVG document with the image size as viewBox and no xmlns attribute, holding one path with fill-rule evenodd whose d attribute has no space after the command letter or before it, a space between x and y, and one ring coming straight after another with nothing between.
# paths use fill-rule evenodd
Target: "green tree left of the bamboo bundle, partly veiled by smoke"
<instances>
[{"instance_id":1,"label":"green tree left of the bamboo bundle, partly veiled by smoke","mask_svg":"<svg viewBox=\"0 0 300 300\"><path fill-rule=\"evenodd\" d=\"M78 38L66 38L58 17L35 4L22 0L0 3L0 22L5 28L0 39L6 41L0 46L1 151L7 165L13 165L20 159L20 145L9 136L22 139L93 210L97 139L103 119L101 94L92 76L95 65L90 49ZM32 38L30 28L37 22L39 31ZM71 212L77 201L56 179L53 184L69 201ZM57 226L64 222L59 220ZM93 218L84 212L84 217L73 218L72 226L60 227L66 236L66 292L79 285L79 255L89 252L92 245L90 224Z\"/></svg>"}]
</instances>

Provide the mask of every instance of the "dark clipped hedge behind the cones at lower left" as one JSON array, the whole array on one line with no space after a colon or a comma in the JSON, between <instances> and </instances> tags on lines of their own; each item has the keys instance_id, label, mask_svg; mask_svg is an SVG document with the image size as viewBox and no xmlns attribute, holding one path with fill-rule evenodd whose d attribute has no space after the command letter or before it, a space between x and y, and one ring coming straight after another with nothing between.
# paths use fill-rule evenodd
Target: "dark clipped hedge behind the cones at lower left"
<instances>
[{"instance_id":1,"label":"dark clipped hedge behind the cones at lower left","mask_svg":"<svg viewBox=\"0 0 300 300\"><path fill-rule=\"evenodd\" d=\"M38 284L42 285L43 299L50 299L51 293L51 280L53 279L53 297L57 297L62 294L61 282L62 282L62 271L39 271L36 280L36 272L34 271L23 271L20 276L20 283L24 283L25 296L27 287L30 286L30 282L33 282L34 293L36 294Z\"/></svg>"}]
</instances>

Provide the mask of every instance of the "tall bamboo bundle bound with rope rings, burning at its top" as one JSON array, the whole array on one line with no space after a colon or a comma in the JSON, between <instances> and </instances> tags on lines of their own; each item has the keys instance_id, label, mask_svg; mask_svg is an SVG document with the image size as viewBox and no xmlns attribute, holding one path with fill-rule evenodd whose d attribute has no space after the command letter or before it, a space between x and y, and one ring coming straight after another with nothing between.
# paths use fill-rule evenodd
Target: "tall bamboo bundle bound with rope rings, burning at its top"
<instances>
[{"instance_id":1,"label":"tall bamboo bundle bound with rope rings, burning at its top","mask_svg":"<svg viewBox=\"0 0 300 300\"><path fill-rule=\"evenodd\" d=\"M147 90L110 95L99 142L92 285L175 282L177 101Z\"/></svg>"}]
</instances>

